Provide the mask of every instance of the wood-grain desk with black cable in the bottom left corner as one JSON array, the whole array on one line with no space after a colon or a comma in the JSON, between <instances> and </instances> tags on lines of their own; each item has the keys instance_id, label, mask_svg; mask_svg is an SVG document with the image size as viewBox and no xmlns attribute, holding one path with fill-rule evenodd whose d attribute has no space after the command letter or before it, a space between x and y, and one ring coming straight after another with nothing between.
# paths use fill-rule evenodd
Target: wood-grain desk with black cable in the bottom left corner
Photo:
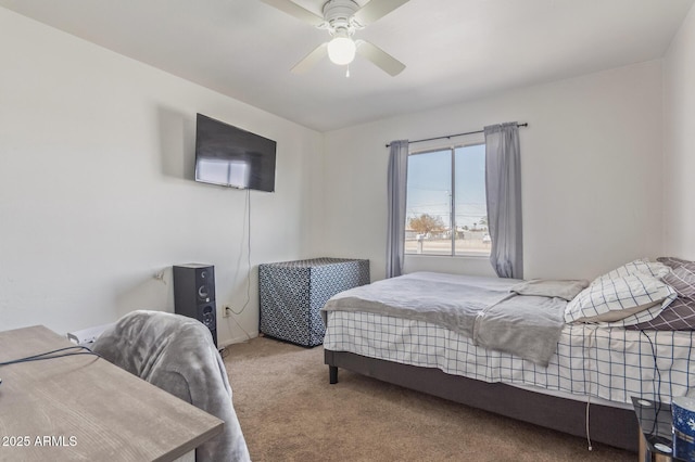
<instances>
[{"instance_id":1,"label":"wood-grain desk with black cable in the bottom left corner","mask_svg":"<svg viewBox=\"0 0 695 462\"><path fill-rule=\"evenodd\" d=\"M0 362L72 345L43 326L0 332ZM0 461L172 461L224 425L96 356L2 365L0 377Z\"/></svg>"}]
</instances>

